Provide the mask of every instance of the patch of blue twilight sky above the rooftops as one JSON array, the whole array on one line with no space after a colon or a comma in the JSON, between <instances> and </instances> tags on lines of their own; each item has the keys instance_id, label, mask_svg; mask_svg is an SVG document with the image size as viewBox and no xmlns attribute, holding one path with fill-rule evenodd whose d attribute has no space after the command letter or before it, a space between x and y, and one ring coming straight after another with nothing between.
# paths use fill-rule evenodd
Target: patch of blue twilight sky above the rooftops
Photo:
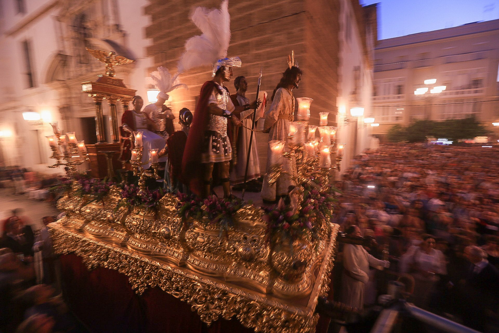
<instances>
[{"instance_id":1,"label":"patch of blue twilight sky above the rooftops","mask_svg":"<svg viewBox=\"0 0 499 333\"><path fill-rule=\"evenodd\" d=\"M499 18L499 0L360 0L378 2L378 39Z\"/></svg>"}]
</instances>

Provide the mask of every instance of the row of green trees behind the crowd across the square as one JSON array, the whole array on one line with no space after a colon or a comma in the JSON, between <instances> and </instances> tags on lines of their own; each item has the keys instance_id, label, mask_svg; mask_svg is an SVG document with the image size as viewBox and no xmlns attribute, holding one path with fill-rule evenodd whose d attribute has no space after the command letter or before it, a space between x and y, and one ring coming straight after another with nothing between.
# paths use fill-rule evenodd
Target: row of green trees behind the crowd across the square
<instances>
[{"instance_id":1,"label":"row of green trees behind the crowd across the square","mask_svg":"<svg viewBox=\"0 0 499 333\"><path fill-rule=\"evenodd\" d=\"M395 125L388 130L387 138L390 142L424 142L427 136L434 136L456 141L486 134L486 128L475 117L468 117L443 121L418 120L407 126Z\"/></svg>"}]
</instances>

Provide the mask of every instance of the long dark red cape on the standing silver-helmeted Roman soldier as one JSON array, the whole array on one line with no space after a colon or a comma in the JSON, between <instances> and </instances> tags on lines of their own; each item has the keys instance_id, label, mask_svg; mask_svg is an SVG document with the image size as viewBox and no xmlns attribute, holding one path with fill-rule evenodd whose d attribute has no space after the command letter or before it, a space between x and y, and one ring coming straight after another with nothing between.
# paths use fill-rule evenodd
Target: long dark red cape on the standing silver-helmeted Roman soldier
<instances>
[{"instance_id":1,"label":"long dark red cape on the standing silver-helmeted Roman soldier","mask_svg":"<svg viewBox=\"0 0 499 333\"><path fill-rule=\"evenodd\" d=\"M210 121L208 112L208 100L213 89L219 90L217 84L212 80L206 81L201 87L198 104L194 110L191 129L187 137L184 156L182 158L182 178L181 181L189 186L189 189L197 194L203 193L203 165L201 163L201 153L205 148L205 131ZM220 93L222 91L219 90Z\"/></svg>"}]
</instances>

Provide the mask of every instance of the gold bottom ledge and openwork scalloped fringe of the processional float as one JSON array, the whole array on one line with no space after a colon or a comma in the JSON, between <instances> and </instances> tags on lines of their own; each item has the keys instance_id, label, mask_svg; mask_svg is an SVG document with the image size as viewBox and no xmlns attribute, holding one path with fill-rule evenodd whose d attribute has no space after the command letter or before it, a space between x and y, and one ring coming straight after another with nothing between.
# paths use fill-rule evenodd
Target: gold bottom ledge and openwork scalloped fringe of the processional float
<instances>
[{"instance_id":1,"label":"gold bottom ledge and openwork scalloped fringe of the processional float","mask_svg":"<svg viewBox=\"0 0 499 333\"><path fill-rule=\"evenodd\" d=\"M235 317L244 326L264 333L314 332L318 320L314 309L318 297L327 295L329 289L338 232L338 226L333 225L331 241L325 245L323 260L313 266L315 279L308 296L283 300L231 285L224 279L208 277L106 240L91 239L69 228L69 225L52 223L49 228L56 253L75 253L89 269L102 266L125 274L138 294L158 286L190 304L205 323Z\"/></svg>"}]
</instances>

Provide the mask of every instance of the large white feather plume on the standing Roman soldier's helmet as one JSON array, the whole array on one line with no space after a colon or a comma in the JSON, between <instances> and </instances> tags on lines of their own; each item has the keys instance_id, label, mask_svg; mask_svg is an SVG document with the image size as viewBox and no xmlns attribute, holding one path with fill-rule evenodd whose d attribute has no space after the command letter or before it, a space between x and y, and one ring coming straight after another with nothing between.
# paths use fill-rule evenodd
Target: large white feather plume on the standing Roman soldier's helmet
<instances>
[{"instance_id":1,"label":"large white feather plume on the standing Roman soldier's helmet","mask_svg":"<svg viewBox=\"0 0 499 333\"><path fill-rule=\"evenodd\" d=\"M220 9L197 7L191 19L203 34L186 41L186 50L177 67L178 73L198 66L211 65L225 58L231 41L229 0L222 1Z\"/></svg>"}]
</instances>

